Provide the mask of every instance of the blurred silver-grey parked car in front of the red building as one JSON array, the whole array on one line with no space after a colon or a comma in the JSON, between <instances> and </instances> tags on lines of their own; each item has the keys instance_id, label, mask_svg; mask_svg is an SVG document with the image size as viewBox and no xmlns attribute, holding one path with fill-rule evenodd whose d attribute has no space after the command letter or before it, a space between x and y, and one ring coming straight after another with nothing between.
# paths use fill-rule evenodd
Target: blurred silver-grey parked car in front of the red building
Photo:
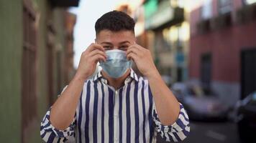
<instances>
[{"instance_id":1,"label":"blurred silver-grey parked car in front of the red building","mask_svg":"<svg viewBox=\"0 0 256 143\"><path fill-rule=\"evenodd\" d=\"M196 84L175 83L171 88L173 94L183 104L192 120L224 121L229 108L211 91Z\"/></svg>"}]
</instances>

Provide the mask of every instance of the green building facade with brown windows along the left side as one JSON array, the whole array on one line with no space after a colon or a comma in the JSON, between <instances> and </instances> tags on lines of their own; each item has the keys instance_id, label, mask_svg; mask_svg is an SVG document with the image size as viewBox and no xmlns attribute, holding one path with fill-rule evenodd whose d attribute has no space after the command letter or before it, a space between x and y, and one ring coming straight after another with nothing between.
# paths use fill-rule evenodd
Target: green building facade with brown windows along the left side
<instances>
[{"instance_id":1,"label":"green building facade with brown windows along the left side","mask_svg":"<svg viewBox=\"0 0 256 143\"><path fill-rule=\"evenodd\" d=\"M68 83L76 1L0 1L1 142L42 142L40 120ZM68 65L65 66L65 65Z\"/></svg>"}]
</instances>

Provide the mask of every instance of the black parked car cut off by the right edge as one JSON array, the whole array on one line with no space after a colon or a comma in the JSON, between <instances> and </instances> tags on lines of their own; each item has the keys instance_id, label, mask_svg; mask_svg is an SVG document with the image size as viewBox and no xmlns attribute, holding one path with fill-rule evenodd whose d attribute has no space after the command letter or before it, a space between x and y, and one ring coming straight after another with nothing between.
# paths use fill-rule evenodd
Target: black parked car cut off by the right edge
<instances>
[{"instance_id":1,"label":"black parked car cut off by the right edge","mask_svg":"<svg viewBox=\"0 0 256 143\"><path fill-rule=\"evenodd\" d=\"M237 126L242 142L256 142L256 91L237 102Z\"/></svg>"}]
</instances>

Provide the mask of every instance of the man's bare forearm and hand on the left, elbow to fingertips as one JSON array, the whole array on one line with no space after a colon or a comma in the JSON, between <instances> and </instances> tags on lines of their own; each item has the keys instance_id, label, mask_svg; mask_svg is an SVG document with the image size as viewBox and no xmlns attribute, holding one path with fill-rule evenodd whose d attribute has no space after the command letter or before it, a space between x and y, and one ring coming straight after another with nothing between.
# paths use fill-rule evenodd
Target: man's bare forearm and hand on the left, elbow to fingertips
<instances>
[{"instance_id":1,"label":"man's bare forearm and hand on the left, elbow to fingertips","mask_svg":"<svg viewBox=\"0 0 256 143\"><path fill-rule=\"evenodd\" d=\"M71 124L76 114L84 81L93 74L100 60L106 61L106 54L101 45L91 44L86 51L83 51L75 77L52 105L50 122L53 127L64 130Z\"/></svg>"}]
</instances>

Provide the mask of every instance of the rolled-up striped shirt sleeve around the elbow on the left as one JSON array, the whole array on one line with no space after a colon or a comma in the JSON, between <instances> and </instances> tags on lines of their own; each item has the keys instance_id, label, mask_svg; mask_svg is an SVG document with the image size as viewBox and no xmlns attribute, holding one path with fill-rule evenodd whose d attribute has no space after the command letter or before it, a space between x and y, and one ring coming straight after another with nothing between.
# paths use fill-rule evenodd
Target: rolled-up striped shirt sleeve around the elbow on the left
<instances>
[{"instance_id":1,"label":"rolled-up striped shirt sleeve around the elbow on the left","mask_svg":"<svg viewBox=\"0 0 256 143\"><path fill-rule=\"evenodd\" d=\"M66 87L65 87L66 88ZM65 90L63 89L63 91ZM65 130L59 130L50 123L50 110L46 112L40 126L40 136L45 142L75 142L76 115L70 126Z\"/></svg>"}]
</instances>

